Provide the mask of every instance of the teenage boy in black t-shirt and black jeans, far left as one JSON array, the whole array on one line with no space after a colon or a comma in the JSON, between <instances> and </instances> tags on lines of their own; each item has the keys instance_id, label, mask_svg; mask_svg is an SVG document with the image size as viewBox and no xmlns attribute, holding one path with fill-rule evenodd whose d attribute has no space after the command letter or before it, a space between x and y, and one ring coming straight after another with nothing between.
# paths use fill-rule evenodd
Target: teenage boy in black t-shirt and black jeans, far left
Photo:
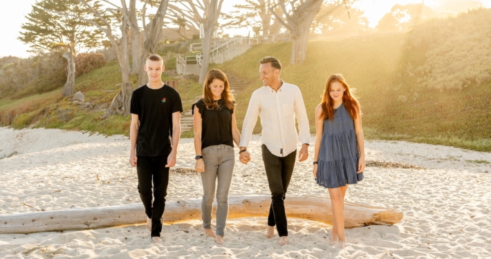
<instances>
[{"instance_id":1,"label":"teenage boy in black t-shirt and black jeans, far left","mask_svg":"<svg viewBox=\"0 0 491 259\"><path fill-rule=\"evenodd\" d=\"M135 89L131 95L129 133L129 164L136 166L138 193L147 214L147 229L151 232L151 239L160 244L163 244L160 231L169 169L176 164L180 113L183 111L179 93L161 79L164 69L162 57L156 54L147 57L145 71L149 82ZM154 204L151 202L152 194Z\"/></svg>"}]
</instances>

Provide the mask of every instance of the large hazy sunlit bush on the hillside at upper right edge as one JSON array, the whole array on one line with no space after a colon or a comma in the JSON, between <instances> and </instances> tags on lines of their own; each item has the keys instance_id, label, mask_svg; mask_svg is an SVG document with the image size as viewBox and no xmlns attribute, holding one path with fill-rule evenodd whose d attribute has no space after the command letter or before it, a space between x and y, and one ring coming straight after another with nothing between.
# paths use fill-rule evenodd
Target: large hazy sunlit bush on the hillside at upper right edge
<instances>
[{"instance_id":1,"label":"large hazy sunlit bush on the hillside at upper right edge","mask_svg":"<svg viewBox=\"0 0 491 259\"><path fill-rule=\"evenodd\" d=\"M477 9L416 26L407 35L407 50L424 57L409 57L409 76L423 87L439 89L491 81L490 17L490 9Z\"/></svg>"}]
</instances>

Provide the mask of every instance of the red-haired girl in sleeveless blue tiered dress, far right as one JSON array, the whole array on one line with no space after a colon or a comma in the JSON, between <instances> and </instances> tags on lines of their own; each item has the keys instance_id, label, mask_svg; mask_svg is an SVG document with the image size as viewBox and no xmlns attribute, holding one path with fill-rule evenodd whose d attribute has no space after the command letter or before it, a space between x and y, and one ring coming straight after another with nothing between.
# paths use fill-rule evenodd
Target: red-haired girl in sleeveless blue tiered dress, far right
<instances>
[{"instance_id":1,"label":"red-haired girl in sleeveless blue tiered dress, far right","mask_svg":"<svg viewBox=\"0 0 491 259\"><path fill-rule=\"evenodd\" d=\"M315 129L313 174L331 196L331 242L344 248L344 195L348 184L363 180L365 153L360 103L342 75L327 79L322 102L315 108Z\"/></svg>"}]
</instances>

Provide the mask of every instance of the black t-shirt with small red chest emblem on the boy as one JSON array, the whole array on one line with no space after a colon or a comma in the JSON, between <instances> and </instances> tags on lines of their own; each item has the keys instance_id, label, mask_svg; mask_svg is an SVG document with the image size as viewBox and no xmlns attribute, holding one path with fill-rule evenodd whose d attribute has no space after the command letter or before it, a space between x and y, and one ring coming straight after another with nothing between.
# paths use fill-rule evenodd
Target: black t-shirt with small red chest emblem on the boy
<instances>
[{"instance_id":1,"label":"black t-shirt with small red chest emblem on the boy","mask_svg":"<svg viewBox=\"0 0 491 259\"><path fill-rule=\"evenodd\" d=\"M179 93L166 84L158 89L145 85L133 90L129 112L140 120L136 155L156 157L171 153L172 113L182 111Z\"/></svg>"}]
</instances>

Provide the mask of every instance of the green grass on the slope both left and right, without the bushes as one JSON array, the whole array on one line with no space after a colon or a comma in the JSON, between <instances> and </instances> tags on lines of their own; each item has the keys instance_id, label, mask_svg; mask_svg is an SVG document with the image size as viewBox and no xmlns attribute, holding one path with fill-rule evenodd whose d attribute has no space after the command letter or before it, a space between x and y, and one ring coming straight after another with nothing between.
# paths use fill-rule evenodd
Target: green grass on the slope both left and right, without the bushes
<instances>
[{"instance_id":1,"label":"green grass on the slope both left and right, without the bushes","mask_svg":"<svg viewBox=\"0 0 491 259\"><path fill-rule=\"evenodd\" d=\"M431 36L420 29L414 32ZM259 44L225 64L213 64L210 68L220 68L250 81L250 86L236 97L239 128L252 92L262 86L259 60L275 56L284 66L281 78L302 90L311 133L315 133L314 111L321 101L325 81L329 75L341 73L357 90L367 139L405 140L491 152L491 81L479 81L463 88L423 86L413 72L426 64L426 53L438 45L409 48L416 45L408 42L417 38L409 33L310 41L306 61L295 65L289 64L291 43ZM469 38L469 41L477 39ZM169 62L168 66L172 66L172 61ZM425 76L431 76L432 71L429 72ZM443 77L452 72L443 69L438 73L438 77ZM163 75L163 80L167 79L173 78ZM136 82L135 77L132 80ZM0 124L128 135L129 117L100 119L104 107L109 106L120 90L120 83L120 68L115 61L77 77L75 91L84 93L86 102L95 106L93 110L79 108L63 99L61 88L15 101L0 99ZM192 80L181 80L179 84L183 108L189 111L196 96L201 95L201 86ZM260 130L258 123L254 133ZM182 137L192 137L192 131Z\"/></svg>"}]
</instances>

